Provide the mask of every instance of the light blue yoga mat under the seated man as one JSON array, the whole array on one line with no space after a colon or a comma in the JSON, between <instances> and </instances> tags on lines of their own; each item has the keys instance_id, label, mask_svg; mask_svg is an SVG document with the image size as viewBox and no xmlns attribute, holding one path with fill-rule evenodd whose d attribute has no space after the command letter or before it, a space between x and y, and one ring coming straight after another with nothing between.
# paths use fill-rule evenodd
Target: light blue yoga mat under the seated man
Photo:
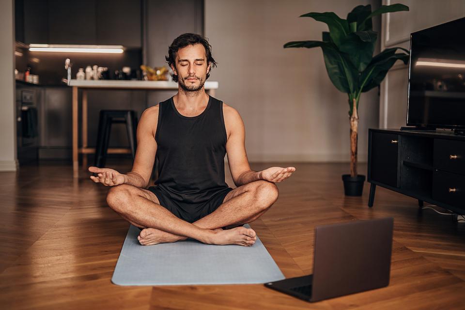
<instances>
[{"instance_id":1,"label":"light blue yoga mat under the seated man","mask_svg":"<svg viewBox=\"0 0 465 310\"><path fill-rule=\"evenodd\" d=\"M285 278L258 236L251 247L206 245L190 239L142 246L139 233L139 228L129 227L111 278L114 284L254 284Z\"/></svg>"}]
</instances>

